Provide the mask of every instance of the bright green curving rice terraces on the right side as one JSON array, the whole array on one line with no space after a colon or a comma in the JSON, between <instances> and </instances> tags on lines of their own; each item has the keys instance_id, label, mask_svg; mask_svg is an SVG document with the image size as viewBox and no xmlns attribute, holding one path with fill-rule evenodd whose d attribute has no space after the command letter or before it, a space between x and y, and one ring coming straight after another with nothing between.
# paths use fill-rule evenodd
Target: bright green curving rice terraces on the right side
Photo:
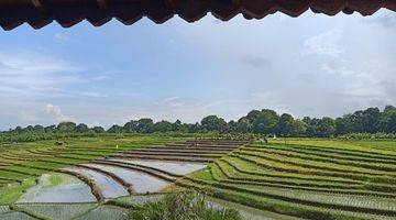
<instances>
[{"instance_id":1,"label":"bright green curving rice terraces on the right side","mask_svg":"<svg viewBox=\"0 0 396 220\"><path fill-rule=\"evenodd\" d=\"M396 219L395 163L391 147L254 143L176 185L289 217Z\"/></svg>"}]
</instances>

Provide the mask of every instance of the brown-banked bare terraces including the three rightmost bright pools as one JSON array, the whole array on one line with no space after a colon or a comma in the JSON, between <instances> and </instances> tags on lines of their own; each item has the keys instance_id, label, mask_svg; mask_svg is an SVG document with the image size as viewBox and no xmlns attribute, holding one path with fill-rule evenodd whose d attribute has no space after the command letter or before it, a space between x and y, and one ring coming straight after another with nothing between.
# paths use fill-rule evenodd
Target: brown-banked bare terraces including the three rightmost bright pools
<instances>
[{"instance_id":1,"label":"brown-banked bare terraces including the three rightmost bright pools","mask_svg":"<svg viewBox=\"0 0 396 220\"><path fill-rule=\"evenodd\" d=\"M98 201L103 201L133 194L157 193L243 143L246 142L186 141L134 148L58 172L79 178L91 188Z\"/></svg>"}]
</instances>

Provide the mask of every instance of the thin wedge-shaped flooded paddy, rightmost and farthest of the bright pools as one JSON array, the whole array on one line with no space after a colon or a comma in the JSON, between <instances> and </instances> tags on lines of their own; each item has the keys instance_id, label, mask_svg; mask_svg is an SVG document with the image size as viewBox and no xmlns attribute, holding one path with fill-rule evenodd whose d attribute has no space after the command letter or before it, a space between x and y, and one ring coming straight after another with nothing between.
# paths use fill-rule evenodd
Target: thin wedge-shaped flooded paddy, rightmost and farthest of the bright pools
<instances>
[{"instance_id":1,"label":"thin wedge-shaped flooded paddy, rightmost and farthest of the bright pools","mask_svg":"<svg viewBox=\"0 0 396 220\"><path fill-rule=\"evenodd\" d=\"M196 172L198 169L205 168L207 166L206 164L186 163L186 162L144 161L144 160L124 160L124 158L111 158L109 161L139 164L177 175L186 175Z\"/></svg>"}]
</instances>

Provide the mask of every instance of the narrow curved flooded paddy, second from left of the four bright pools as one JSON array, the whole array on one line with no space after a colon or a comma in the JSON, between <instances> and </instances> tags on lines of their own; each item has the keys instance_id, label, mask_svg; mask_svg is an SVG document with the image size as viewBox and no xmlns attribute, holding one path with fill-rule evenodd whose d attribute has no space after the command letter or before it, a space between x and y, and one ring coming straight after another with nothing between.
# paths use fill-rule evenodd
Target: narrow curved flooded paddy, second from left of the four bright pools
<instances>
[{"instance_id":1,"label":"narrow curved flooded paddy, second from left of the four bright pools","mask_svg":"<svg viewBox=\"0 0 396 220\"><path fill-rule=\"evenodd\" d=\"M94 179L94 182L101 189L105 198L117 198L129 195L127 189L121 184L117 183L111 177L100 174L96 170L80 168L80 167L69 167L66 169L72 172L77 172L79 174L87 176L88 178Z\"/></svg>"}]
</instances>

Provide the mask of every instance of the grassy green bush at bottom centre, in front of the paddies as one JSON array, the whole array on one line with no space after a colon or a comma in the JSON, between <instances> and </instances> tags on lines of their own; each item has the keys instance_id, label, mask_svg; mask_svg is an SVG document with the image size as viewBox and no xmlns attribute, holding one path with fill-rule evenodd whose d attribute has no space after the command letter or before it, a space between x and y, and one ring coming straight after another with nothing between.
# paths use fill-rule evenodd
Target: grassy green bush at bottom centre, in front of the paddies
<instances>
[{"instance_id":1,"label":"grassy green bush at bottom centre, in front of the paddies","mask_svg":"<svg viewBox=\"0 0 396 220\"><path fill-rule=\"evenodd\" d=\"M196 191L166 195L157 201L148 201L130 210L130 219L136 220L240 220L234 209L208 206L207 196Z\"/></svg>"}]
</instances>

